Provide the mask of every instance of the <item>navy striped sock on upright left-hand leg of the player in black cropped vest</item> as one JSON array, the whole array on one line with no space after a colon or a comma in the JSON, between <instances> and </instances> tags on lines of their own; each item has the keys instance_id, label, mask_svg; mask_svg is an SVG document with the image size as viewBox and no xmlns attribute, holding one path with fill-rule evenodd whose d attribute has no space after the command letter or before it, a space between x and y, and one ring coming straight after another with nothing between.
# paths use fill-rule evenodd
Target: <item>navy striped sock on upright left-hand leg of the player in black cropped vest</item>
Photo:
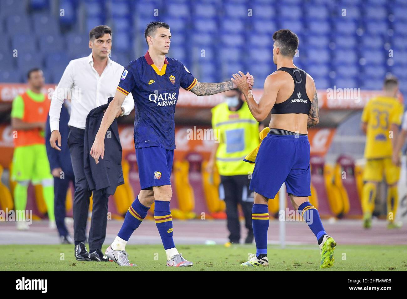
<instances>
[{"instance_id":1,"label":"navy striped sock on upright left-hand leg of the player in black cropped vest","mask_svg":"<svg viewBox=\"0 0 407 299\"><path fill-rule=\"evenodd\" d=\"M252 226L256 241L256 256L267 255L267 230L269 229L269 207L255 203L252 208Z\"/></svg>"}]
</instances>

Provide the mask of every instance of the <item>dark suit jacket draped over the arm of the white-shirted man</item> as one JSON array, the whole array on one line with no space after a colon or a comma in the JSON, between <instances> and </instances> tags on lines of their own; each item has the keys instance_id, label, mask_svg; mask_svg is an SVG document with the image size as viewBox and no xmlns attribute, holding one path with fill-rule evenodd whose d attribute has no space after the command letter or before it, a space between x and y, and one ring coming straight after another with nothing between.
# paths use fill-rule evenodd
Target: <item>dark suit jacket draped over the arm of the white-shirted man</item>
<instances>
[{"instance_id":1,"label":"dark suit jacket draped over the arm of the white-shirted man","mask_svg":"<svg viewBox=\"0 0 407 299\"><path fill-rule=\"evenodd\" d=\"M106 188L106 193L114 194L116 187L124 184L122 169L122 146L120 144L119 131L116 119L107 130L105 136L105 155L99 157L99 163L90 155L90 149L96 137L96 133L103 118L103 111L107 109L108 103L92 109L86 118L85 139L83 144L83 159L86 181L89 190L101 190Z\"/></svg>"}]
</instances>

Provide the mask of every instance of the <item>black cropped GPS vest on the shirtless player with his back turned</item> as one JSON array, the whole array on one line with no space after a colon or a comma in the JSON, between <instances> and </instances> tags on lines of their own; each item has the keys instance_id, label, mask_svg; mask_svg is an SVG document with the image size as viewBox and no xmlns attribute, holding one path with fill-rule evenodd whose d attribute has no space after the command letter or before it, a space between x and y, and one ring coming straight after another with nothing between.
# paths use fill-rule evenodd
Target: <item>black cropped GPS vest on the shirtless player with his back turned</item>
<instances>
[{"instance_id":1,"label":"black cropped GPS vest on the shirtless player with his back turned","mask_svg":"<svg viewBox=\"0 0 407 299\"><path fill-rule=\"evenodd\" d=\"M287 72L291 75L291 77L293 77L294 91L293 94L284 102L274 104L273 109L271 109L271 114L309 114L309 109L311 109L311 101L309 100L305 90L306 72L298 68L279 68L278 70Z\"/></svg>"}]
</instances>

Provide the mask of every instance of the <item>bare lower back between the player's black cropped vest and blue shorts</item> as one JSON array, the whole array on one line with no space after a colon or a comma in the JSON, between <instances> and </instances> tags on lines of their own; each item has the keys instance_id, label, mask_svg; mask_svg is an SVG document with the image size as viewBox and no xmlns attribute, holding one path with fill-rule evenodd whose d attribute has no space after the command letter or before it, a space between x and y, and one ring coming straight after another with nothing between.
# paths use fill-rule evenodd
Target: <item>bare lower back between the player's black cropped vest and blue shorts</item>
<instances>
[{"instance_id":1,"label":"bare lower back between the player's black cropped vest and blue shorts","mask_svg":"<svg viewBox=\"0 0 407 299\"><path fill-rule=\"evenodd\" d=\"M307 134L307 120L308 115L306 114L271 114L269 128Z\"/></svg>"}]
</instances>

